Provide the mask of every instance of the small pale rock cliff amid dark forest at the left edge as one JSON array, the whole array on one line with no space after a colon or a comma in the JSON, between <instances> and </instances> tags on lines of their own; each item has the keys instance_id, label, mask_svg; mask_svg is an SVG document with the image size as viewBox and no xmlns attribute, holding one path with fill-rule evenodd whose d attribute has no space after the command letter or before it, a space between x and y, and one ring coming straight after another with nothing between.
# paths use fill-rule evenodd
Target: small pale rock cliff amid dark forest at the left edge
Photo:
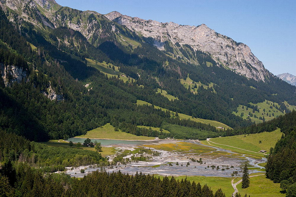
<instances>
[{"instance_id":1,"label":"small pale rock cliff amid dark forest at the left edge","mask_svg":"<svg viewBox=\"0 0 296 197\"><path fill-rule=\"evenodd\" d=\"M0 65L0 74L4 80L5 86L11 86L14 82L20 83L22 79L27 78L27 70L17 66Z\"/></svg>"}]
</instances>

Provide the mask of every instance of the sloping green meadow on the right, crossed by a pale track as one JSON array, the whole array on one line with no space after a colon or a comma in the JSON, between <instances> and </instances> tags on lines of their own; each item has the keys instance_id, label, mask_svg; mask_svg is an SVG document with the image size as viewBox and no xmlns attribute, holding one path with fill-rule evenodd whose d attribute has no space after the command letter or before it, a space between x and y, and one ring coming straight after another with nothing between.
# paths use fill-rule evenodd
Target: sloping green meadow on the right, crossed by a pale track
<instances>
[{"instance_id":1,"label":"sloping green meadow on the right, crossed by a pale track","mask_svg":"<svg viewBox=\"0 0 296 197\"><path fill-rule=\"evenodd\" d=\"M246 136L238 135L238 136L228 136L228 137L219 137L219 138L210 139L210 141L212 142L215 142L218 144L224 144L228 146L222 146L222 145L213 144L213 143L210 143L210 144L221 147L221 148L233 150L238 153L251 154L251 155L263 157L262 154L247 152L247 151L239 150L229 146L234 146L237 148L246 149L254 152L259 152L260 150L263 149L263 150L266 150L267 151L266 154L268 154L269 149L271 147L274 147L278 139L281 138L281 135L282 133L280 129L276 129L275 131L272 131L272 132L255 133L255 134L250 134ZM261 140L261 143L259 143L259 140ZM209 145L206 140L201 141L201 143Z\"/></svg>"}]
</instances>

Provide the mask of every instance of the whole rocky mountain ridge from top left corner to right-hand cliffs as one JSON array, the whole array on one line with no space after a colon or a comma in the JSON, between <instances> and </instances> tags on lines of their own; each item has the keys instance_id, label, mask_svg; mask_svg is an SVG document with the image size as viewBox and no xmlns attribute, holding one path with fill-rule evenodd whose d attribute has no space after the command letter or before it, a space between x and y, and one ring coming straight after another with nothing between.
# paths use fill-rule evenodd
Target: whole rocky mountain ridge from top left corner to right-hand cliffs
<instances>
[{"instance_id":1,"label":"whole rocky mountain ridge from top left corner to right-hand cliffs","mask_svg":"<svg viewBox=\"0 0 296 197\"><path fill-rule=\"evenodd\" d=\"M167 48L172 48L170 50L171 53L168 52L169 55L176 59L180 57L183 61L197 66L200 65L199 62L192 58L190 54L188 54L189 56L187 56L186 52L184 54L184 45L188 44L195 51L200 50L208 53L217 66L230 69L247 78L266 82L272 76L247 45L237 43L233 39L215 32L205 24L190 26L178 25L174 22L162 23L155 20L144 20L139 17L129 17L117 11L108 14L99 14L89 10L80 11L69 7L62 7L54 0L7 0L2 1L1 4L2 8L7 6L9 9L17 10L25 21L33 22L34 25L41 29L45 25L52 29L63 26L78 30L93 45L100 44L100 41L97 40L99 37L105 37L105 40L115 38L118 42L124 42L126 45L129 45L131 41L126 40L125 36L122 36L122 33L120 33L127 32L126 29L128 29L130 31L129 34L137 36L134 34L136 32L136 34L140 35L140 38L133 37L132 40L137 42L137 39L142 39L147 42L149 38L152 38L152 44L158 49L168 52ZM29 9L35 10L33 16ZM89 20L91 15L96 20ZM100 18L104 20L103 17L114 22L113 24L107 24L107 26L110 26L108 27L107 34L105 33L106 31L101 29L102 24L98 21ZM115 24L121 26L119 27ZM168 43L166 43L167 41ZM136 44L134 47L137 45L139 44ZM191 52L189 51L188 53Z\"/></svg>"}]
</instances>

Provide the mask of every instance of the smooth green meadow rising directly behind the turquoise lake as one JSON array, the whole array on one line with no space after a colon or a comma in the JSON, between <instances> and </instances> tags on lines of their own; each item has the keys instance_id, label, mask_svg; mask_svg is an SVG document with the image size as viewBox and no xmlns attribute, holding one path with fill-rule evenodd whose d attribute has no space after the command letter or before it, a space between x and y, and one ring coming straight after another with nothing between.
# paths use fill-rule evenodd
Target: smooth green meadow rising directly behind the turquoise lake
<instances>
[{"instance_id":1,"label":"smooth green meadow rising directly behind the turquoise lake","mask_svg":"<svg viewBox=\"0 0 296 197\"><path fill-rule=\"evenodd\" d=\"M158 130L159 131L159 130ZM88 131L85 135L76 136L79 138L96 138L96 139L121 139L121 140L152 140L154 137L136 136L123 131L114 131L114 127L110 123L102 127Z\"/></svg>"}]
</instances>

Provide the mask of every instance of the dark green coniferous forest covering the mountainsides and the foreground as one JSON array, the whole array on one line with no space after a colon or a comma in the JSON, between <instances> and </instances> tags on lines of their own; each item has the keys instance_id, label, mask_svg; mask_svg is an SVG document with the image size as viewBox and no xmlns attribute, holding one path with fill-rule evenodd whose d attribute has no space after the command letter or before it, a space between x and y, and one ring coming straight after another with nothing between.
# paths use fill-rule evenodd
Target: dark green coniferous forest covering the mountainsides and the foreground
<instances>
[{"instance_id":1,"label":"dark green coniferous forest covering the mountainsides and the foreground","mask_svg":"<svg viewBox=\"0 0 296 197\"><path fill-rule=\"evenodd\" d=\"M0 6L0 196L225 196L221 189L212 191L207 185L173 177L108 173L103 168L81 179L52 173L66 167L110 165L99 152L38 143L83 135L106 123L136 136L182 140L280 128L283 136L270 150L266 177L274 183L288 182L287 194L296 190L296 112L284 104L296 105L292 85L272 74L266 82L249 79L218 66L210 54L187 44L176 44L182 54L176 57L168 41L160 51L152 38L101 14L85 19L97 28L87 39L65 25L68 19L83 21L82 11L60 7L51 16L55 24L29 4L23 11L29 16L26 20ZM118 34L140 44L124 45ZM89 66L88 59L118 68L128 80ZM187 77L202 84L197 93L192 90L194 83L188 88L181 83ZM178 99L168 99L158 89ZM137 105L137 100L151 105ZM255 109L250 103L265 100L278 103L283 115L255 124L232 113L239 105ZM177 113L192 118L180 118Z\"/></svg>"}]
</instances>

